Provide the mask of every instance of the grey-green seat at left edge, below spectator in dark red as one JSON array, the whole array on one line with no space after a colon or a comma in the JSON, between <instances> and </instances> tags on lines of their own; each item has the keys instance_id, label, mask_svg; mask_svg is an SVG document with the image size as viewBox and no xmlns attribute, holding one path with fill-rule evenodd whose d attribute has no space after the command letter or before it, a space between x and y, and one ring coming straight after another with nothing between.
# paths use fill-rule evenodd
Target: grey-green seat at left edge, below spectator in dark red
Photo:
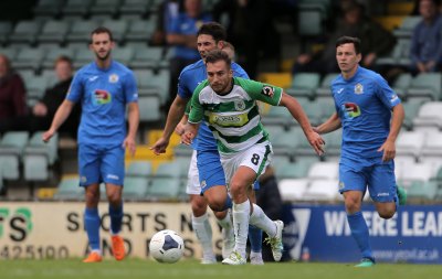
<instances>
[{"instance_id":1,"label":"grey-green seat at left edge, below spectator in dark red","mask_svg":"<svg viewBox=\"0 0 442 279\"><path fill-rule=\"evenodd\" d=\"M20 178L20 164L28 139L27 131L8 131L1 138L0 165L3 179L18 180Z\"/></svg>"}]
</instances>

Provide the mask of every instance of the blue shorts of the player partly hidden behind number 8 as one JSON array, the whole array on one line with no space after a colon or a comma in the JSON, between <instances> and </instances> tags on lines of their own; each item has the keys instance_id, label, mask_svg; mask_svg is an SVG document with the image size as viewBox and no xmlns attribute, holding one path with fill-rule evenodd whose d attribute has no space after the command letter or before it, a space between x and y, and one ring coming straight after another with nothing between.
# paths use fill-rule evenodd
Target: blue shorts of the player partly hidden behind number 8
<instances>
[{"instance_id":1,"label":"blue shorts of the player partly hidden behind number 8","mask_svg":"<svg viewBox=\"0 0 442 279\"><path fill-rule=\"evenodd\" d=\"M212 186L225 185L224 170L222 169L218 150L197 150L197 165L201 194ZM253 190L259 189L260 183L256 181L253 184Z\"/></svg>"}]
</instances>

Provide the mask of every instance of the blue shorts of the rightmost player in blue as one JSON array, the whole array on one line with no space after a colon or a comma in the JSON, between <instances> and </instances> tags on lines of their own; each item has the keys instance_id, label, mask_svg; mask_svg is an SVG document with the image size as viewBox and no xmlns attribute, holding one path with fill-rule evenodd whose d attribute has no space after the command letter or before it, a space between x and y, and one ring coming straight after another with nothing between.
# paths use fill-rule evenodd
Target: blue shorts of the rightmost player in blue
<instances>
[{"instance_id":1,"label":"blue shorts of the rightmost player in blue","mask_svg":"<svg viewBox=\"0 0 442 279\"><path fill-rule=\"evenodd\" d=\"M370 193L371 200L380 203L396 202L394 161L382 162L381 158L364 162L341 158L339 162L339 192L361 191Z\"/></svg>"}]
</instances>

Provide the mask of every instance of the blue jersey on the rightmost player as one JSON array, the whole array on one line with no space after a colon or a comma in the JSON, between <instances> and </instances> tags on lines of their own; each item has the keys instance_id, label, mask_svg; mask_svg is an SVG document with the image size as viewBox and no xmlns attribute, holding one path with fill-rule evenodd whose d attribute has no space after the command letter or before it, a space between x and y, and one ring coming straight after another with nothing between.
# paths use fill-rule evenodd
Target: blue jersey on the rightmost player
<instances>
[{"instance_id":1,"label":"blue jersey on the rightmost player","mask_svg":"<svg viewBox=\"0 0 442 279\"><path fill-rule=\"evenodd\" d=\"M401 103L398 95L379 74L360 66L349 79L336 77L332 94L343 124L341 157L381 158L377 150L390 132L391 109Z\"/></svg>"}]
</instances>

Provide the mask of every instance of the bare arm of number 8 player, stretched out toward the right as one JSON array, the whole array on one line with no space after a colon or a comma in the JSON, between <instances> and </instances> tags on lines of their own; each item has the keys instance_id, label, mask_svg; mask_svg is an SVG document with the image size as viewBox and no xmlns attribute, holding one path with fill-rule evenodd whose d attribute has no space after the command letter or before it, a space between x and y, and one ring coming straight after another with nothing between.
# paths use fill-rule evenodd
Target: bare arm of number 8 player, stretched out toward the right
<instances>
[{"instance_id":1,"label":"bare arm of number 8 player, stretched out toward the right","mask_svg":"<svg viewBox=\"0 0 442 279\"><path fill-rule=\"evenodd\" d=\"M315 149L318 155L324 154L323 147L325 144L323 138L314 131L307 115L305 114L303 107L299 103L291 97L290 95L283 93L280 101L280 106L284 106L288 109L292 116L296 119L296 121L301 125L301 128L304 131L305 137L307 138L308 142Z\"/></svg>"}]
</instances>

